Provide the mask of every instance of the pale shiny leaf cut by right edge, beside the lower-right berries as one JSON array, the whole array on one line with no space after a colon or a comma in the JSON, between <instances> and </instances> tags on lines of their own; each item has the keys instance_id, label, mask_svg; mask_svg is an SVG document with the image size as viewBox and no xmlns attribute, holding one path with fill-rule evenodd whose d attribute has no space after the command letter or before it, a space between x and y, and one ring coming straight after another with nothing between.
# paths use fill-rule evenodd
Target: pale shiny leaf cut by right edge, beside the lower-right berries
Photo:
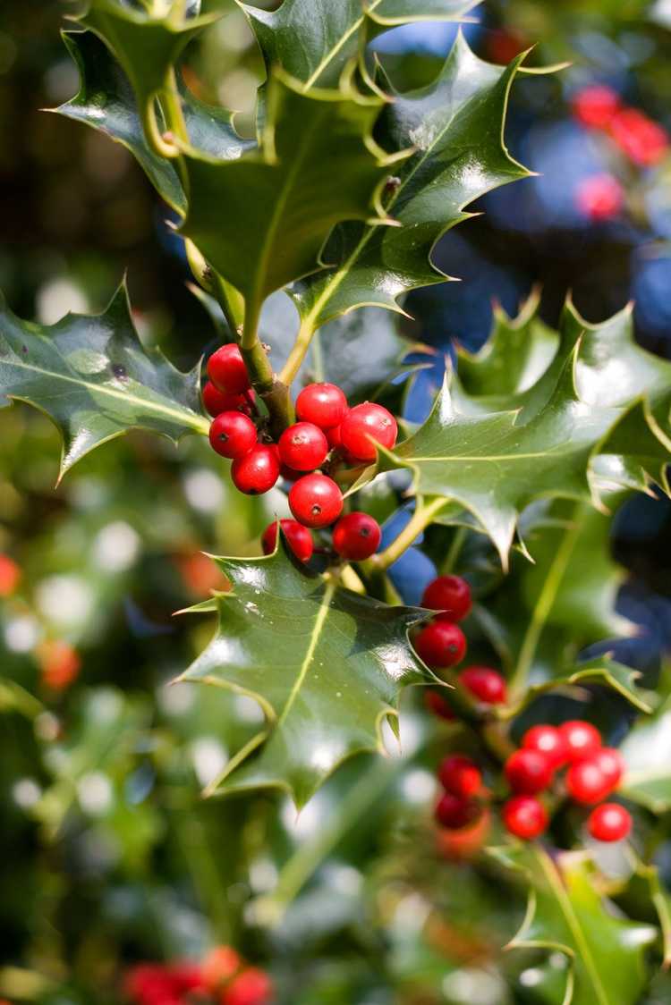
<instances>
[{"instance_id":1,"label":"pale shiny leaf cut by right edge, beside the lower-right berries","mask_svg":"<svg viewBox=\"0 0 671 1005\"><path fill-rule=\"evenodd\" d=\"M671 809L671 681L662 681L663 700L653 716L636 724L620 752L627 766L621 792L653 813Z\"/></svg>"}]
</instances>

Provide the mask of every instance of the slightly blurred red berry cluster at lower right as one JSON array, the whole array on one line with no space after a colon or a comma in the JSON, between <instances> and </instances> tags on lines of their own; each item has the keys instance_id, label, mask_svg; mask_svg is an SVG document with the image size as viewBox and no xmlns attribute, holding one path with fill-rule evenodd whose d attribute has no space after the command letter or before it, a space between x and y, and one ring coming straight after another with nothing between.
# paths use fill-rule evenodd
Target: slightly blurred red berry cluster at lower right
<instances>
[{"instance_id":1,"label":"slightly blurred red berry cluster at lower right","mask_svg":"<svg viewBox=\"0 0 671 1005\"><path fill-rule=\"evenodd\" d=\"M563 768L563 790L555 791L556 795L565 794L582 806L601 804L588 818L590 834L599 841L627 837L632 827L629 812L619 803L603 802L620 784L622 757L617 750L604 747L599 731L581 720L558 728L534 726L524 734L522 746L503 768L512 792L501 808L506 830L527 841L544 833L549 814L539 794L556 785L557 772ZM436 807L437 821L449 829L475 824L489 795L480 768L471 758L454 754L442 763L439 779L445 793Z\"/></svg>"}]
</instances>

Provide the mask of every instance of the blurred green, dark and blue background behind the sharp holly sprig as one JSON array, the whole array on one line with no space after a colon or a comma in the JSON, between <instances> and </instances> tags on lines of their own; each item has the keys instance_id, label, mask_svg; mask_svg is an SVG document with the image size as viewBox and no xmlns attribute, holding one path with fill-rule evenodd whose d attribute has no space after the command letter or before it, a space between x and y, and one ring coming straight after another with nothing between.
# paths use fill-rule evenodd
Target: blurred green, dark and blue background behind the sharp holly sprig
<instances>
[{"instance_id":1,"label":"blurred green, dark and blue background behind the sharp holly sprig","mask_svg":"<svg viewBox=\"0 0 671 1005\"><path fill-rule=\"evenodd\" d=\"M39 111L77 89L59 38L69 9L0 10L0 286L17 314L53 323L101 311L128 269L142 338L187 369L216 333L186 287L166 207L123 148ZM410 297L405 334L440 353L407 397L409 418L426 412L454 341L477 349L492 303L514 314L537 285L550 325L568 289L591 321L634 297L637 337L671 357L671 156L632 163L572 111L580 88L606 84L671 132L671 3L487 0L475 13L465 30L480 55L503 62L535 45L531 65L571 65L515 85L508 144L539 176L487 196L484 215L441 242L436 261L460 283ZM453 38L453 26L415 25L376 48L399 85L421 85ZM189 49L185 77L248 130L262 74L231 0ZM606 215L580 198L604 175L622 194ZM545 1000L533 955L500 954L522 890L503 896L493 865L449 865L459 851L437 845L431 769L446 727L416 695L405 698L402 757L345 766L298 819L275 797L200 799L260 713L246 698L169 686L210 632L172 612L220 585L201 551L259 553L273 493L233 495L195 438L176 451L141 434L89 456L54 490L49 422L16 405L0 433L0 551L11 560L0 564L0 996L119 1002L134 963L230 943L269 967L293 1005ZM373 506L386 517L395 497ZM671 508L630 500L614 528L627 571L619 610L643 626L618 656L653 685L671 641ZM408 599L450 533L435 529L397 570ZM481 552L486 593L496 563ZM476 655L479 644L476 631ZM601 708L617 736L624 703L602 695ZM667 830L656 840L671 872ZM661 977L646 1001L670 995Z\"/></svg>"}]
</instances>

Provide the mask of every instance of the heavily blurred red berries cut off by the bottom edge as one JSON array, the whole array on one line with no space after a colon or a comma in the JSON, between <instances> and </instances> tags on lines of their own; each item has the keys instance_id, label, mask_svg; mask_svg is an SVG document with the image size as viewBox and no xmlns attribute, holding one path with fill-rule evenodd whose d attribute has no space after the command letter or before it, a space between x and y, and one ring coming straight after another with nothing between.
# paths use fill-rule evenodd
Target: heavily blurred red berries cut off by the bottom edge
<instances>
[{"instance_id":1,"label":"heavily blurred red berries cut off by the bottom edge","mask_svg":"<svg viewBox=\"0 0 671 1005\"><path fill-rule=\"evenodd\" d=\"M131 970L126 995L137 1005L270 1005L273 983L248 967L230 946L217 946L201 963L143 963Z\"/></svg>"}]
</instances>

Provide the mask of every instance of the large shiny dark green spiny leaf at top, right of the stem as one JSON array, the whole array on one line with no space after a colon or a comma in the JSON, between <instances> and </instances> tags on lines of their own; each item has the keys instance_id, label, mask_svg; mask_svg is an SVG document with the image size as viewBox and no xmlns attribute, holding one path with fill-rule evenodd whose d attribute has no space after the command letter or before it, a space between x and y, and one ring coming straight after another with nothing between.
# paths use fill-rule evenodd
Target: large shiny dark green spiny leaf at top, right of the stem
<instances>
[{"instance_id":1,"label":"large shiny dark green spiny leaf at top, right of the stem","mask_svg":"<svg viewBox=\"0 0 671 1005\"><path fill-rule=\"evenodd\" d=\"M364 305L399 311L402 293L445 281L431 261L439 238L468 219L464 207L473 200L529 174L502 139L508 94L522 58L507 67L484 62L460 34L430 86L393 92L376 137L386 150L413 150L394 169L385 201L400 226L347 223L336 228L324 251L332 267L310 276L293 293L307 328Z\"/></svg>"}]
</instances>

